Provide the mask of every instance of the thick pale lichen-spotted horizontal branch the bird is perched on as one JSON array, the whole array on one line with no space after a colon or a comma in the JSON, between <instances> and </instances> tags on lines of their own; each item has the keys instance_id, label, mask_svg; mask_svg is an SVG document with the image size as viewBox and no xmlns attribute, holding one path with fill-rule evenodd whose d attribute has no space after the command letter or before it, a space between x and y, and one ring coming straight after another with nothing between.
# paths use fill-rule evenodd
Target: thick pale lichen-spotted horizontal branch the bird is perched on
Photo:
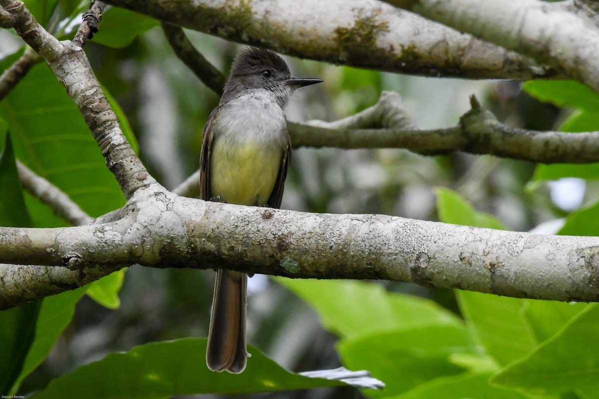
<instances>
[{"instance_id":1,"label":"thick pale lichen-spotted horizontal branch the bird is perched on","mask_svg":"<svg viewBox=\"0 0 599 399\"><path fill-rule=\"evenodd\" d=\"M0 275L2 306L74 288L76 273L87 282L98 270L109 273L134 263L599 300L599 237L228 205L179 197L159 185L138 190L125 211L122 220L101 226L0 228L0 263L59 266L52 268L59 272L53 273L50 288L37 283L37 278L48 279L44 269L5 270ZM30 287L28 282L33 289L23 289Z\"/></svg>"}]
</instances>

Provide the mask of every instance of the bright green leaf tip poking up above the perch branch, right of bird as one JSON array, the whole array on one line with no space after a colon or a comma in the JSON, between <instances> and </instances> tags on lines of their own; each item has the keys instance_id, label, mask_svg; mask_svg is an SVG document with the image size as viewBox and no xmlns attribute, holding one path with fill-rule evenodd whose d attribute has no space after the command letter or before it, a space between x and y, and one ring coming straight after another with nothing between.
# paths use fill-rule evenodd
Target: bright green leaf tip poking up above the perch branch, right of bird
<instances>
[{"instance_id":1,"label":"bright green leaf tip poking up above the perch branch, right of bird","mask_svg":"<svg viewBox=\"0 0 599 399\"><path fill-rule=\"evenodd\" d=\"M449 188L437 187L437 212L443 223L464 226L486 227L487 229L507 230L497 218L477 212L470 203Z\"/></svg>"}]
</instances>

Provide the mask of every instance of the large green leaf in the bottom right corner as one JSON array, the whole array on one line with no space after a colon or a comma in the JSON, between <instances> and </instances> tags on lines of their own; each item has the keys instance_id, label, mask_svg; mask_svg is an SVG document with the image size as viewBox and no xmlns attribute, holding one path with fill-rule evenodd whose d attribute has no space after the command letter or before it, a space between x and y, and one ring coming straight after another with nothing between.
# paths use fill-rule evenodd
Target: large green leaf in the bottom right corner
<instances>
[{"instance_id":1,"label":"large green leaf in the bottom right corner","mask_svg":"<svg viewBox=\"0 0 599 399\"><path fill-rule=\"evenodd\" d=\"M559 394L597 387L599 307L588 305L565 327L534 349L527 357L510 364L491 382L533 394Z\"/></svg>"}]
</instances>

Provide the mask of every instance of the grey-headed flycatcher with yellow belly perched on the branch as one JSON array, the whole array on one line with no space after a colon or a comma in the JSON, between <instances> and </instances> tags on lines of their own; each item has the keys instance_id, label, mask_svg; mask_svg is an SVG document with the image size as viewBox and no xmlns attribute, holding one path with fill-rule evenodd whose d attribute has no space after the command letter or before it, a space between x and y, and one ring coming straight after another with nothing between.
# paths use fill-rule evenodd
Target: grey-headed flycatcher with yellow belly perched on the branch
<instances>
[{"instance_id":1,"label":"grey-headed flycatcher with yellow belly perched on the branch","mask_svg":"<svg viewBox=\"0 0 599 399\"><path fill-rule=\"evenodd\" d=\"M241 51L204 129L201 199L280 208L291 161L283 107L295 89L320 82L292 77L273 51ZM210 370L246 368L246 288L246 273L217 270L206 351Z\"/></svg>"}]
</instances>

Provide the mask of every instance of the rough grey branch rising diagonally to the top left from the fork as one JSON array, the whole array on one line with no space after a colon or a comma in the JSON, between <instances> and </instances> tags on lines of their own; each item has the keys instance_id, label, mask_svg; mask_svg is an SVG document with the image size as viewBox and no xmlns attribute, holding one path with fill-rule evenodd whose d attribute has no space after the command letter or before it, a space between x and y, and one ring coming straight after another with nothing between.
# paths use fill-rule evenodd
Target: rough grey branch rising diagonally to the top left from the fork
<instances>
[{"instance_id":1,"label":"rough grey branch rising diagonally to the top left from the fork","mask_svg":"<svg viewBox=\"0 0 599 399\"><path fill-rule=\"evenodd\" d=\"M22 2L1 0L0 4L8 14L0 14L0 24L12 26L46 60L79 108L125 197L130 198L138 188L155 183L123 135L81 47L50 35Z\"/></svg>"}]
</instances>

